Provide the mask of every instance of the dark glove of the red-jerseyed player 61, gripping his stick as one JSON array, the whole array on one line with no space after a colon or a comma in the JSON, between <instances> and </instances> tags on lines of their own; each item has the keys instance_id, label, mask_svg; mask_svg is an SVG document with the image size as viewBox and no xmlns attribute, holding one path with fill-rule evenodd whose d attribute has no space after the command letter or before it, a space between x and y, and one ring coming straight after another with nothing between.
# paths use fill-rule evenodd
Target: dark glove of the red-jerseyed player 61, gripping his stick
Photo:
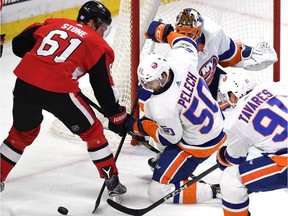
<instances>
[{"instance_id":1,"label":"dark glove of the red-jerseyed player 61, gripping his stick","mask_svg":"<svg viewBox=\"0 0 288 216\"><path fill-rule=\"evenodd\" d=\"M126 133L126 120L129 116L126 112L126 107L121 106L120 112L109 117L109 130L117 133L119 136L124 136Z\"/></svg>"}]
</instances>

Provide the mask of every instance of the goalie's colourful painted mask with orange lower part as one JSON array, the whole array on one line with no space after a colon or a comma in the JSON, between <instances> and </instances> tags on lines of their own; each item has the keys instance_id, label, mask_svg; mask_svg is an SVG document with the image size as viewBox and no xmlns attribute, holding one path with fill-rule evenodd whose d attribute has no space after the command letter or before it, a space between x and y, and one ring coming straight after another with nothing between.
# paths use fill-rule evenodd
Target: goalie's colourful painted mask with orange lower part
<instances>
[{"instance_id":1,"label":"goalie's colourful painted mask with orange lower part","mask_svg":"<svg viewBox=\"0 0 288 216\"><path fill-rule=\"evenodd\" d=\"M203 31L204 19L193 8L185 8L176 17L176 31L197 40Z\"/></svg>"}]
</instances>

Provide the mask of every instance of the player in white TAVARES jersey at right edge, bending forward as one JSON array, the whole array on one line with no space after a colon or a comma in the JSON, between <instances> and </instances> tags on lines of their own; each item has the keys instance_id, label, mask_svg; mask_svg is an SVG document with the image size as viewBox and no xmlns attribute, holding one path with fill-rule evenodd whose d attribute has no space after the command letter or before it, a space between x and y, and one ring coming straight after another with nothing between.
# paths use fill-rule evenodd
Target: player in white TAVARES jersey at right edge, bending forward
<instances>
[{"instance_id":1,"label":"player in white TAVARES jersey at right edge, bending forward","mask_svg":"<svg viewBox=\"0 0 288 216\"><path fill-rule=\"evenodd\" d=\"M236 106L224 121L227 145L217 154L224 170L220 186L225 216L250 215L248 191L288 187L287 83L265 83L252 89L251 82L236 73L227 74L219 86L222 98ZM247 161L252 146L262 156Z\"/></svg>"}]
</instances>

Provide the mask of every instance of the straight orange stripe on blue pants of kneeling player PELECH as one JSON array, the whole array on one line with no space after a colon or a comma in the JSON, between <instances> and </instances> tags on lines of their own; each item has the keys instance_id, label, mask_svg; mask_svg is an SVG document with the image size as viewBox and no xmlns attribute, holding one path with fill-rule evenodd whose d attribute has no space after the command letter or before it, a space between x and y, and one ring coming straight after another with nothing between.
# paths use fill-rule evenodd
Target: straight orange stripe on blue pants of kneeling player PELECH
<instances>
[{"instance_id":1,"label":"straight orange stripe on blue pants of kneeling player PELECH","mask_svg":"<svg viewBox=\"0 0 288 216\"><path fill-rule=\"evenodd\" d=\"M179 168L182 166L182 164L186 161L188 157L190 157L190 155L187 152L180 152L163 174L160 183L169 184L170 180L173 178L173 176L176 174L176 172L179 170Z\"/></svg>"}]
</instances>

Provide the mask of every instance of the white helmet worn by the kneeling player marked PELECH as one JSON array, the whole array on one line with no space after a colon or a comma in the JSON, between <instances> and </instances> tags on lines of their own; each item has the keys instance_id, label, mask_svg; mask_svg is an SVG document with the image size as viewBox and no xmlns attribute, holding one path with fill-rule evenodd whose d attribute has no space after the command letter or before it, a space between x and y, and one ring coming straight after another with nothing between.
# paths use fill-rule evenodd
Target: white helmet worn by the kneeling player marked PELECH
<instances>
[{"instance_id":1,"label":"white helmet worn by the kneeling player marked PELECH","mask_svg":"<svg viewBox=\"0 0 288 216\"><path fill-rule=\"evenodd\" d=\"M164 56L156 53L148 53L140 61L137 68L138 80L144 87L148 82L158 80L160 86L163 87L166 82L162 78L162 73L166 72L167 79L169 77L169 65Z\"/></svg>"}]
</instances>

